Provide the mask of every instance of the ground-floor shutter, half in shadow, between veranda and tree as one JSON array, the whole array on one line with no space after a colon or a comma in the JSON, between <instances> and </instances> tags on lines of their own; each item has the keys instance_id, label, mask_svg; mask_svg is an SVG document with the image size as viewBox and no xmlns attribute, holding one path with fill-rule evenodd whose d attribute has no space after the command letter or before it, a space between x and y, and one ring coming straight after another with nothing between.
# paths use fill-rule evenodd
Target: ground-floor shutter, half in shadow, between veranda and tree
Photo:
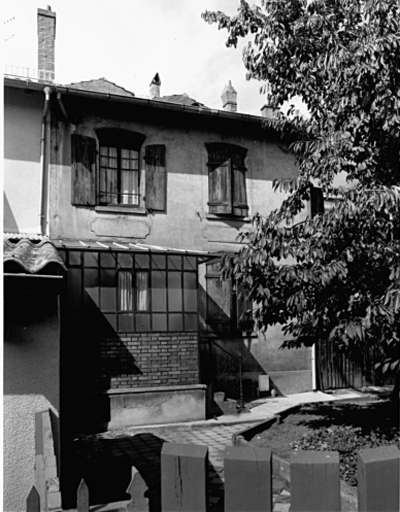
<instances>
[{"instance_id":1,"label":"ground-floor shutter, half in shadow, between veranda and tree","mask_svg":"<svg viewBox=\"0 0 400 512\"><path fill-rule=\"evenodd\" d=\"M206 325L209 332L230 333L232 318L232 281L221 279L221 263L207 263Z\"/></svg>"}]
</instances>

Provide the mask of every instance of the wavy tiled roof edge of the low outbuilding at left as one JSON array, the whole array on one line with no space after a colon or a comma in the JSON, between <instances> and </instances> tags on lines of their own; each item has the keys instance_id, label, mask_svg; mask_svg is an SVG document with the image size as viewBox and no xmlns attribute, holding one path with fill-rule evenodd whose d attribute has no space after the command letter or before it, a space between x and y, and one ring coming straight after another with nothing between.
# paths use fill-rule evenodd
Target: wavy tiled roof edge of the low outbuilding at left
<instances>
[{"instance_id":1,"label":"wavy tiled roof edge of the low outbuilding at left","mask_svg":"<svg viewBox=\"0 0 400 512\"><path fill-rule=\"evenodd\" d=\"M5 239L3 241L3 261L16 263L28 274L36 274L50 263L67 270L54 244L49 240L34 243L23 239L16 243ZM57 267L56 267L57 268Z\"/></svg>"}]
</instances>

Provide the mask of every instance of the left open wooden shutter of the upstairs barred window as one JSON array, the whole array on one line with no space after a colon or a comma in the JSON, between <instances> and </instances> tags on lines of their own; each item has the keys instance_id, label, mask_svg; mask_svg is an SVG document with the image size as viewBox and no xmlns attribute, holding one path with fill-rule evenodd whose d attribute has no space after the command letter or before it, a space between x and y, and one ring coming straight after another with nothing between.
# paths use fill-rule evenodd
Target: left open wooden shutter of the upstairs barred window
<instances>
[{"instance_id":1,"label":"left open wooden shutter of the upstairs barred window","mask_svg":"<svg viewBox=\"0 0 400 512\"><path fill-rule=\"evenodd\" d=\"M71 203L96 204L96 139L71 135Z\"/></svg>"}]
</instances>

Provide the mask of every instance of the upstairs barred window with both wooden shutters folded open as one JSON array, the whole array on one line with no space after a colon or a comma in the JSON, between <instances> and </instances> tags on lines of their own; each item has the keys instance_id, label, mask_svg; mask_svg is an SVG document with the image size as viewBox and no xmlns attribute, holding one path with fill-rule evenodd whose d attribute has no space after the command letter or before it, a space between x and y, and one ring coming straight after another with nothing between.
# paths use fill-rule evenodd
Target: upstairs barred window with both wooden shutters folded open
<instances>
[{"instance_id":1,"label":"upstairs barred window with both wooden shutters folded open","mask_svg":"<svg viewBox=\"0 0 400 512\"><path fill-rule=\"evenodd\" d=\"M145 136L128 130L100 128L96 135L72 135L71 203L164 211L165 146L143 148Z\"/></svg>"}]
</instances>

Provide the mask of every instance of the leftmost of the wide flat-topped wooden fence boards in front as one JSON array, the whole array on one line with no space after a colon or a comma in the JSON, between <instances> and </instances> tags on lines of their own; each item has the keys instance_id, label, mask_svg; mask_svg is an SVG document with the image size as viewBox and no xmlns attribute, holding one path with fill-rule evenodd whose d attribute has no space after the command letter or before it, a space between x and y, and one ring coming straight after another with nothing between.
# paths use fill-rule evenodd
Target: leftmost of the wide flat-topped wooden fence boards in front
<instances>
[{"instance_id":1,"label":"leftmost of the wide flat-topped wooden fence boards in front","mask_svg":"<svg viewBox=\"0 0 400 512\"><path fill-rule=\"evenodd\" d=\"M161 451L162 512L206 512L208 448L164 443Z\"/></svg>"}]
</instances>

